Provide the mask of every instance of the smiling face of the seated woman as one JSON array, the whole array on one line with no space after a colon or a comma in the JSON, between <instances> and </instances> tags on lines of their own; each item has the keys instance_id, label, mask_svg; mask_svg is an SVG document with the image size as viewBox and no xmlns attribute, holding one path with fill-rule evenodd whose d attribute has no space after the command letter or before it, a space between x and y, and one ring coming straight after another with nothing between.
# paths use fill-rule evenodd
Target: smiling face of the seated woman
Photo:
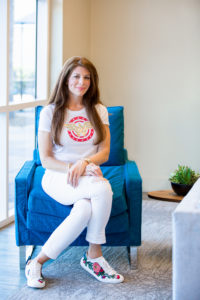
<instances>
[{"instance_id":1,"label":"smiling face of the seated woman","mask_svg":"<svg viewBox=\"0 0 200 300\"><path fill-rule=\"evenodd\" d=\"M90 72L84 67L76 67L68 79L69 92L74 96L83 97L90 87Z\"/></svg>"}]
</instances>

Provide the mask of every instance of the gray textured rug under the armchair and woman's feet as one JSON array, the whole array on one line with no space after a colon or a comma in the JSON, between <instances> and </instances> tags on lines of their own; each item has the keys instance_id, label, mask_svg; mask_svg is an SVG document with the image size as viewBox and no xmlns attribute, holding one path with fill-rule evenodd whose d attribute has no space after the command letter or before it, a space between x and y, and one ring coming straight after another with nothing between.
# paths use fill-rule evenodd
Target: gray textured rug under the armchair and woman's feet
<instances>
[{"instance_id":1,"label":"gray textured rug under the armchair and woman's feet","mask_svg":"<svg viewBox=\"0 0 200 300\"><path fill-rule=\"evenodd\" d=\"M138 269L130 270L125 247L103 247L111 266L121 272L121 284L104 284L79 265L86 247L73 247L44 268L47 286L42 290L24 286L10 300L105 300L172 299L171 213L177 203L143 201L142 246Z\"/></svg>"}]
</instances>

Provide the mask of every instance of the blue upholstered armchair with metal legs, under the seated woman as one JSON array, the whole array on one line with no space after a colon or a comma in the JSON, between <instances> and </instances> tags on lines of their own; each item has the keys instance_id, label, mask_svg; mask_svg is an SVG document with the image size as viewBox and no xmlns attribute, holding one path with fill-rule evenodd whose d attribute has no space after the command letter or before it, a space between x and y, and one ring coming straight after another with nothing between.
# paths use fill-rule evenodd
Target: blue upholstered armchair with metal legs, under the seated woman
<instances>
[{"instance_id":1,"label":"blue upholstered armchair with metal legs, under the seated woman","mask_svg":"<svg viewBox=\"0 0 200 300\"><path fill-rule=\"evenodd\" d=\"M38 145L38 120L42 107L36 108L36 147L32 161L26 161L15 178L15 229L16 244L20 246L20 267L25 265L26 247L43 245L55 228L66 218L72 206L57 203L42 189ZM142 179L137 165L128 160L124 149L123 107L108 107L111 151L109 160L101 170L113 190L113 204L106 227L107 246L127 246L130 263L135 267L137 247L141 245ZM88 245L86 230L71 246Z\"/></svg>"}]
</instances>

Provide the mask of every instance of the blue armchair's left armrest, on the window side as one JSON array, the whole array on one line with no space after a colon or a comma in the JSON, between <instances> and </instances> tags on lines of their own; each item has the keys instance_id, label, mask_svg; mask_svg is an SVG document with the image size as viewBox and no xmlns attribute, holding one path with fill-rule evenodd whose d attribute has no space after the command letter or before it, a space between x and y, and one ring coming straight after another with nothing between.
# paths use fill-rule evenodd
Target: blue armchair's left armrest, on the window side
<instances>
[{"instance_id":1,"label":"blue armchair's left armrest, on the window side","mask_svg":"<svg viewBox=\"0 0 200 300\"><path fill-rule=\"evenodd\" d=\"M15 235L17 246L26 245L28 230L26 226L28 194L36 169L35 161L26 161L15 177Z\"/></svg>"}]
</instances>

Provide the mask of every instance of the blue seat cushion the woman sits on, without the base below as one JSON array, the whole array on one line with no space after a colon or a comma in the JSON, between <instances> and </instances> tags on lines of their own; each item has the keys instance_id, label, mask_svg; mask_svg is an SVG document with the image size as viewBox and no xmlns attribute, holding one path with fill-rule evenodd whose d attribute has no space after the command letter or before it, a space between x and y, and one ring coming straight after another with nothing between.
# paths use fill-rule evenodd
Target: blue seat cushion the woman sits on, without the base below
<instances>
[{"instance_id":1,"label":"blue seat cushion the woman sits on, without the base below","mask_svg":"<svg viewBox=\"0 0 200 300\"><path fill-rule=\"evenodd\" d=\"M111 216L116 216L127 210L124 186L124 166L102 167L102 172L111 184L113 190L113 205ZM62 205L48 196L41 186L44 168L38 166L35 170L31 192L28 198L28 210L33 213L65 218L69 215L72 205Z\"/></svg>"}]
</instances>

